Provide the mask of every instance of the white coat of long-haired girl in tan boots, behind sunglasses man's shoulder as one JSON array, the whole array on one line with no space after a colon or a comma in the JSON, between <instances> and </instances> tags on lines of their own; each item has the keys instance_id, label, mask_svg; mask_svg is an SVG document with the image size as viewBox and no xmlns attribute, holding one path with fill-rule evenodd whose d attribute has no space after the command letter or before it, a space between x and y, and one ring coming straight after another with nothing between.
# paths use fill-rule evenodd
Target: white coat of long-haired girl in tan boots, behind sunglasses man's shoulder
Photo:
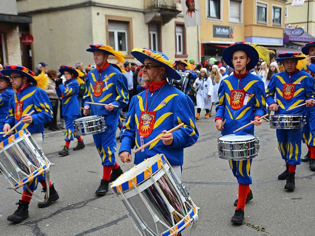
<instances>
[{"instance_id":1,"label":"white coat of long-haired girl in tan boots, behind sunglasses man's shoulder","mask_svg":"<svg viewBox=\"0 0 315 236\"><path fill-rule=\"evenodd\" d=\"M198 83L198 85L196 83ZM201 108L202 110L210 110L212 101L211 98L208 98L208 95L211 96L211 94L213 93L211 78L208 77L201 79L200 77L198 77L192 87L198 89L196 94L197 108Z\"/></svg>"}]
</instances>

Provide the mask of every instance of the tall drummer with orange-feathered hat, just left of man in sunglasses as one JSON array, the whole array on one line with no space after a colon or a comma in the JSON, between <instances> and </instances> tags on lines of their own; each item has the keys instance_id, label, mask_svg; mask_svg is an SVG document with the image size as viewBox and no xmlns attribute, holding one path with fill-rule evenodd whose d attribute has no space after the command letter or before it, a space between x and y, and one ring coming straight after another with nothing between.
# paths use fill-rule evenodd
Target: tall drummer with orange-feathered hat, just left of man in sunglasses
<instances>
[{"instance_id":1,"label":"tall drummer with orange-feathered hat, just left of man in sunglasses","mask_svg":"<svg viewBox=\"0 0 315 236\"><path fill-rule=\"evenodd\" d=\"M103 166L103 177L95 194L105 195L109 182L114 181L123 171L115 161L116 129L120 109L129 101L127 81L125 76L108 63L109 55L116 57L118 62L124 62L123 53L116 52L111 46L90 44L88 52L93 52L96 69L91 70L86 78L86 91L83 95L83 114L102 115L105 117L107 131L93 135L94 143ZM96 102L108 104L105 106L88 104ZM113 107L117 105L118 107Z\"/></svg>"}]
</instances>

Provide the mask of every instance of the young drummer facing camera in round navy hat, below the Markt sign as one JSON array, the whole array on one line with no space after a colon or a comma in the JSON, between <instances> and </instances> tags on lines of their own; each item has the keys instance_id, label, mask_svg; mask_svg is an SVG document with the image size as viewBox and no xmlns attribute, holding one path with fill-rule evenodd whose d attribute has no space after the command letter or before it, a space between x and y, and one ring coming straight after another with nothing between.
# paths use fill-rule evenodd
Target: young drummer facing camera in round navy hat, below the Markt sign
<instances>
[{"instance_id":1,"label":"young drummer facing camera in round navy hat, below the Markt sign","mask_svg":"<svg viewBox=\"0 0 315 236\"><path fill-rule=\"evenodd\" d=\"M222 135L228 135L250 121L260 125L262 121L258 121L258 118L266 114L266 101L264 82L249 73L259 59L255 48L245 42L236 42L224 49L222 58L234 68L234 72L219 87L215 125ZM225 127L222 119L226 119ZM236 132L236 135L247 134L254 135L254 125ZM252 184L252 159L229 162L233 175L238 180L238 199L234 202L236 211L231 221L243 224L245 203L253 199L249 188L249 184Z\"/></svg>"}]
</instances>

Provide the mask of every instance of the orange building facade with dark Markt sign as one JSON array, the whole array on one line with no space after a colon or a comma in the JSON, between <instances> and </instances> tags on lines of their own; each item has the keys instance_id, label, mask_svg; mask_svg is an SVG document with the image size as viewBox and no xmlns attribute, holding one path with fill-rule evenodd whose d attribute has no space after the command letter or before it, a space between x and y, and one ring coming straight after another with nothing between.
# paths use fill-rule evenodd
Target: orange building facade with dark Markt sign
<instances>
[{"instance_id":1,"label":"orange building facade with dark Markt sign","mask_svg":"<svg viewBox=\"0 0 315 236\"><path fill-rule=\"evenodd\" d=\"M200 0L201 55L221 58L229 44L283 46L284 0Z\"/></svg>"}]
</instances>

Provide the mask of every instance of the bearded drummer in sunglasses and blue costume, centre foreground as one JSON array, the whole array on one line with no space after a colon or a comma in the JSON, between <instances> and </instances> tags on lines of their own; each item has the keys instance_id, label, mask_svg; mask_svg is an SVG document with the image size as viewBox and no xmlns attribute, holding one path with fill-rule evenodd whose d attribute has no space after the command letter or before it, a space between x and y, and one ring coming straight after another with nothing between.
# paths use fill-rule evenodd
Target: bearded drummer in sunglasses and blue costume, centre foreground
<instances>
[{"instance_id":1,"label":"bearded drummer in sunglasses and blue costume, centre foreground","mask_svg":"<svg viewBox=\"0 0 315 236\"><path fill-rule=\"evenodd\" d=\"M179 80L180 75L165 54L146 48L135 48L131 54L143 64L146 90L131 99L120 135L119 158L123 163L131 162L131 149L159 136L160 139L135 154L134 164L163 153L181 179L184 148L196 143L199 137L194 104L187 95L167 83L166 77ZM165 134L181 123L185 125Z\"/></svg>"}]
</instances>

